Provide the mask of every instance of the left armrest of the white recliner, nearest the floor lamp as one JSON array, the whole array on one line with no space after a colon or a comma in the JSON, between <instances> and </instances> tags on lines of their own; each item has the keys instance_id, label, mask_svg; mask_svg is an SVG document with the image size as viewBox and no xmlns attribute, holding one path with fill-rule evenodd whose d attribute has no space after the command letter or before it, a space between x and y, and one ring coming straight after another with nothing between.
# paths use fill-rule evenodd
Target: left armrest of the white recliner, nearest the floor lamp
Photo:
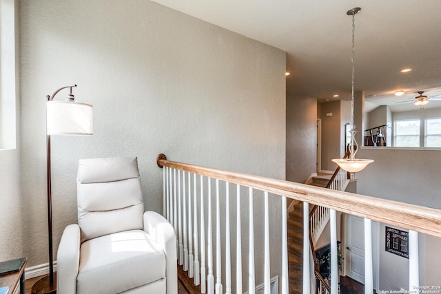
<instances>
[{"instance_id":1,"label":"left armrest of the white recliner, nearest the floor lamp","mask_svg":"<svg viewBox=\"0 0 441 294\"><path fill-rule=\"evenodd\" d=\"M57 251L57 292L76 293L76 276L80 264L80 227L70 224L65 227Z\"/></svg>"}]
</instances>

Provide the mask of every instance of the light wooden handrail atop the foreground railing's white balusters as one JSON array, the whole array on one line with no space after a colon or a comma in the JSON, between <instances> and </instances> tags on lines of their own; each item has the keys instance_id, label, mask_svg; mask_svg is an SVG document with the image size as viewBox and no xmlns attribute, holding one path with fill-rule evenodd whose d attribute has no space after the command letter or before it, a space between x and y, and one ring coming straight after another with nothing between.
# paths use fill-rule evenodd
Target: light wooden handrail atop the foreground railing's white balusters
<instances>
[{"instance_id":1,"label":"light wooden handrail atop the foreground railing's white balusters","mask_svg":"<svg viewBox=\"0 0 441 294\"><path fill-rule=\"evenodd\" d=\"M335 191L286 180L189 165L167 160L163 154L158 156L156 163L159 167L171 167L189 171L193 174L217 178L233 184L268 191L294 200L329 207L360 218L369 218L441 238L441 210L439 209Z\"/></svg>"}]
</instances>

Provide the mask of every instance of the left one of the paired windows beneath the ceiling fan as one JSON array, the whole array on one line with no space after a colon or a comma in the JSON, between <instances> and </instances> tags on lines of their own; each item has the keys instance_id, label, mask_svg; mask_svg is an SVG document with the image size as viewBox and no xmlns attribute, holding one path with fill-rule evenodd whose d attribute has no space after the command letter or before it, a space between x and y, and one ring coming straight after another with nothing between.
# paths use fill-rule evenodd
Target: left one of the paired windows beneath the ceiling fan
<instances>
[{"instance_id":1,"label":"left one of the paired windows beneath the ceiling fan","mask_svg":"<svg viewBox=\"0 0 441 294\"><path fill-rule=\"evenodd\" d=\"M396 120L393 142L396 147L420 147L420 120Z\"/></svg>"}]
</instances>

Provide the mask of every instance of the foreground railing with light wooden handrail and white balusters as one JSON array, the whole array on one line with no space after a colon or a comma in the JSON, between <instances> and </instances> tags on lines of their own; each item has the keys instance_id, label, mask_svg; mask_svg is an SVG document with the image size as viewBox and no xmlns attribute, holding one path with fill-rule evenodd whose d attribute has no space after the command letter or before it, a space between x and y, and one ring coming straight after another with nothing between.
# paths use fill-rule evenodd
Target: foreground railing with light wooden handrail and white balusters
<instances>
[{"instance_id":1,"label":"foreground railing with light wooden handrail and white balusters","mask_svg":"<svg viewBox=\"0 0 441 294\"><path fill-rule=\"evenodd\" d=\"M164 214L167 216L167 220L174 225L176 231L176 238L178 240L177 253L178 260L183 260L183 264L188 264L188 275L194 278L194 284L205 284L208 281L208 286L201 285L201 293L205 293L208 290L209 293L213 293L213 288L216 294L223 293L223 283L225 279L225 290L227 293L232 292L233 284L231 280L232 272L236 271L236 293L243 293L247 291L248 293L255 293L256 284L256 270L254 259L256 256L255 251L255 241L258 244L261 240L254 240L254 201L263 201L264 204L264 216L265 225L263 226L264 232L264 253L263 253L263 264L258 264L258 266L263 266L263 276L257 277L259 280L264 281L264 293L268 294L270 289L270 279L271 271L274 271L269 266L269 253L271 252L271 247L268 240L274 240L274 236L271 238L271 228L269 227L269 193L274 196L280 196L282 199L281 215L283 216L281 221L282 235L278 236L281 238L281 242L275 242L274 244L282 244L280 251L282 252L282 260L278 262L281 265L281 281L282 281L282 291L281 293L288 293L288 271L287 271L287 216L286 216L286 198L291 198L304 203L304 222L303 226L305 228L309 227L309 217L308 206L311 204L320 204L321 206L330 209L329 218L331 221L331 281L330 281L330 293L338 294L338 264L337 264L337 246L336 246L336 211L341 211L342 213L356 214L365 218L365 293L372 293L372 268L371 260L373 259L371 253L371 220L376 220L378 222L383 222L385 224L392 224L404 229L409 229L409 244L414 244L412 246L412 251L409 252L409 288L418 287L419 285L419 271L418 271L418 232L426 233L429 235L435 235L441 237L441 211L438 209L431 209L427 207L419 207L416 205L405 204L400 202L393 202L390 200L384 200L379 198L373 198L369 196L356 195L352 193L346 193L342 191L334 191L331 189L321 189L318 187L312 187L309 185L302 185L294 182L287 182L284 180L276 180L271 178L264 178L260 176L251 176L246 174L234 173L232 171L221 171L219 169L209 169L207 167L197 167L194 165L188 165L179 162L172 162L165 159L165 156L159 158L158 165L160 167L166 166L163 172L164 183L163 183L163 193L165 209ZM185 174L187 172L187 174ZM183 174L183 181L180 180L181 173ZM198 185L196 180L196 174L200 175L199 187L201 193L198 195ZM193 185L191 185L191 178L193 175ZM213 260L212 260L212 200L211 200L211 179L216 179L216 285L213 286L214 275L213 275ZM207 183L207 186L204 183ZM220 183L222 182L222 184ZM186 187L186 183L188 184ZM230 225L229 222L231 215L229 214L230 202L229 202L229 187L230 185L236 185L236 266L232 267L231 262L231 248L230 244L233 244L230 239ZM193 186L193 189L192 189ZM225 213L221 211L220 207L220 186L225 188ZM204 189L207 187L207 189ZM241 240L241 227L243 222L241 220L241 198L240 187L249 188L249 247L242 248ZM188 190L186 190L188 189ZM256 192L254 192L256 191ZM263 191L263 193L260 193ZM262 197L262 195L263 197ZM254 200L254 196L256 200ZM181 199L183 198L183 199ZM205 198L208 198L207 213L208 213L208 236L205 238ZM186 201L187 200L187 201ZM181 204L180 204L181 203ZM280 202L274 202L278 204ZM198 204L201 209L198 209ZM188 211L186 211L185 206L188 205ZM192 210L193 208L193 210ZM273 207L274 209L274 207ZM181 211L182 210L182 211ZM187 216L187 222L186 218ZM223 218L225 216L225 219ZM201 222L198 220L201 219ZM198 228L198 224L201 227ZM225 242L221 238L220 227L221 224L225 224ZM187 229L183 228L187 226ZM246 225L244 224L244 227ZM198 230L201 230L201 235L198 235ZM188 255L185 254L185 244L186 239L188 240ZM303 254L303 292L311 293L315 292L316 289L311 288L311 279L315 277L309 277L309 263L310 263L310 252L309 252L309 239L307 236L304 238L304 249ZM181 250L181 245L183 244L183 250ZM201 244L201 265L198 260L198 248ZM208 251L205 252L205 244L208 245ZM223 262L222 256L220 255L220 248L225 246L225 256ZM334 244L334 245L333 245ZM245 251L245 252L244 252ZM193 254L194 253L194 254ZM205 255L208 258L208 274L205 273ZM248 289L244 289L242 277L243 264L242 256L248 255L248 271L245 276L248 277ZM182 256L181 256L182 255ZM225 268L222 269L223 264ZM226 277L223 278L221 273L225 271ZM277 270L278 271L278 270ZM200 275L201 273L201 275ZM321 283L321 282L320 282ZM322 286L320 286L322 289ZM329 290L325 292L328 293Z\"/></svg>"}]
</instances>

